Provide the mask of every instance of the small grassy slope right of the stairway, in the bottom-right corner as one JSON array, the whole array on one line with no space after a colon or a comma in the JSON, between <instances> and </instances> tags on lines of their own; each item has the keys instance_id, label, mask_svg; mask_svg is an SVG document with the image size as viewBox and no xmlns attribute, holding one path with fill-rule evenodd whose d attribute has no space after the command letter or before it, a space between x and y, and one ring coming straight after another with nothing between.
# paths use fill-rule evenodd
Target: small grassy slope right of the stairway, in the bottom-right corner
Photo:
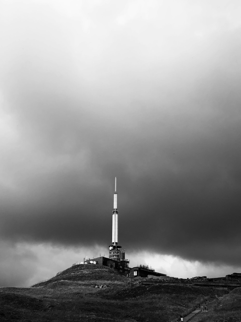
<instances>
[{"instance_id":1,"label":"small grassy slope right of the stairway, in the bottom-right corner","mask_svg":"<svg viewBox=\"0 0 241 322\"><path fill-rule=\"evenodd\" d=\"M241 322L241 288L232 290L219 300L218 306L205 314L205 322Z\"/></svg>"}]
</instances>

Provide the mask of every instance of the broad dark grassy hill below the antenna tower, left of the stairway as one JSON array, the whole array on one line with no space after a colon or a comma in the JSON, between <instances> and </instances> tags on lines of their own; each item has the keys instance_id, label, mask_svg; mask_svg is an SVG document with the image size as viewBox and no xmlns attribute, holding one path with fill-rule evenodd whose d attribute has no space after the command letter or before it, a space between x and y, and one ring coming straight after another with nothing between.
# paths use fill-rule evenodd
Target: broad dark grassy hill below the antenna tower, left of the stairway
<instances>
[{"instance_id":1,"label":"broad dark grassy hill below the antenna tower, left of the stairway","mask_svg":"<svg viewBox=\"0 0 241 322\"><path fill-rule=\"evenodd\" d=\"M204 298L229 296L213 287L132 284L99 266L70 268L37 287L1 288L0 321L175 321Z\"/></svg>"}]
</instances>

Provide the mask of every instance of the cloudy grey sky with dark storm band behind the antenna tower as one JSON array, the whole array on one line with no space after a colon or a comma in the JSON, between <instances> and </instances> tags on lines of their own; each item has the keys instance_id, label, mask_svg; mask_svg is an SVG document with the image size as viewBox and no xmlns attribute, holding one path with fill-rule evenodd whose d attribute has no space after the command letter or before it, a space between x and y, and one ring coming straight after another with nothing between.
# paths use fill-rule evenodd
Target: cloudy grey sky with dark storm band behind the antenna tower
<instances>
[{"instance_id":1,"label":"cloudy grey sky with dark storm band behind the antenna tower","mask_svg":"<svg viewBox=\"0 0 241 322\"><path fill-rule=\"evenodd\" d=\"M108 257L241 272L241 3L0 1L0 286Z\"/></svg>"}]
</instances>

